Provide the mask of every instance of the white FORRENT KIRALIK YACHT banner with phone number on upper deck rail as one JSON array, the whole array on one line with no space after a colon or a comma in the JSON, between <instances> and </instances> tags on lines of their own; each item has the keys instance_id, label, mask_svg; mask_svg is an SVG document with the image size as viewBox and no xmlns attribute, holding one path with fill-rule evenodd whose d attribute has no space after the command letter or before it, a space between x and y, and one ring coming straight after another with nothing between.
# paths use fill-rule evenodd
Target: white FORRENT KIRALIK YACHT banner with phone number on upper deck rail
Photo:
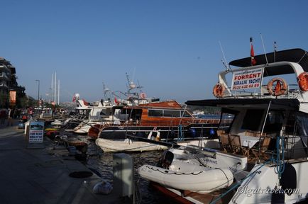
<instances>
[{"instance_id":1,"label":"white FORRENT KIRALIK YACHT banner with phone number on upper deck rail","mask_svg":"<svg viewBox=\"0 0 308 204\"><path fill-rule=\"evenodd\" d=\"M263 68L233 72L231 90L260 88Z\"/></svg>"}]
</instances>

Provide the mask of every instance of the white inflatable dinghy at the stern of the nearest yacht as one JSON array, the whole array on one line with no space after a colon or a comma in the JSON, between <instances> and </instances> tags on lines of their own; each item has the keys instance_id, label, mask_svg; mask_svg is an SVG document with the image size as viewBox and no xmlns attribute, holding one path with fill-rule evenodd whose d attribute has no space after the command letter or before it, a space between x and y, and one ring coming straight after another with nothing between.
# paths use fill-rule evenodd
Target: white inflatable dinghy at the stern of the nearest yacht
<instances>
[{"instance_id":1,"label":"white inflatable dinghy at the stern of the nearest yacht","mask_svg":"<svg viewBox=\"0 0 308 204\"><path fill-rule=\"evenodd\" d=\"M138 174L166 188L204 194L231 186L233 174L246 165L246 157L180 146L168 149L158 166L141 166Z\"/></svg>"}]
</instances>

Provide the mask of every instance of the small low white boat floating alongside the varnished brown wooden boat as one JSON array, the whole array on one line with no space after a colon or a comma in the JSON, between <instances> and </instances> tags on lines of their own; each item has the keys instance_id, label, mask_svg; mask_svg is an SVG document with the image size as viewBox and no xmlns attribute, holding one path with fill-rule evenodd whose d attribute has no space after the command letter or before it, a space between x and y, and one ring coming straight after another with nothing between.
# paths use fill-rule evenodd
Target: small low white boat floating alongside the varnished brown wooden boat
<instances>
[{"instance_id":1,"label":"small low white boat floating alongside the varnished brown wooden boat","mask_svg":"<svg viewBox=\"0 0 308 204\"><path fill-rule=\"evenodd\" d=\"M104 152L145 152L163 150L168 147L163 145L155 145L148 142L138 142L132 140L106 140L98 138L95 140L97 146L101 147Z\"/></svg>"}]
</instances>

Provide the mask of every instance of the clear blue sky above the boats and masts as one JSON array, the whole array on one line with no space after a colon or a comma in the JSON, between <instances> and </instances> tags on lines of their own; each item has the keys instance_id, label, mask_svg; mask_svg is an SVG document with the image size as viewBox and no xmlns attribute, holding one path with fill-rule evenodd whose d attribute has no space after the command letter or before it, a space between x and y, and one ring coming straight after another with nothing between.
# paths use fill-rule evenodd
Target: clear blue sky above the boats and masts
<instances>
[{"instance_id":1,"label":"clear blue sky above the boats and masts","mask_svg":"<svg viewBox=\"0 0 308 204\"><path fill-rule=\"evenodd\" d=\"M277 50L308 50L308 1L1 1L0 57L16 67L26 94L60 102L126 91L127 80L161 100L214 98L226 61ZM263 38L263 43L261 40ZM221 44L221 47L219 45Z\"/></svg>"}]
</instances>

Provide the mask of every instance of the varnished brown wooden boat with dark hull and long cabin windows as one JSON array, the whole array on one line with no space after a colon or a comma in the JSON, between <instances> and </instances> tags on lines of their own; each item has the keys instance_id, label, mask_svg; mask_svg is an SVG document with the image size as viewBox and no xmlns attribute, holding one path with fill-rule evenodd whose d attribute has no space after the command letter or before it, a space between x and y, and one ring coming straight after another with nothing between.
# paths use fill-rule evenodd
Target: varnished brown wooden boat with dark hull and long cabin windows
<instances>
[{"instance_id":1,"label":"varnished brown wooden boat with dark hull and long cabin windows","mask_svg":"<svg viewBox=\"0 0 308 204\"><path fill-rule=\"evenodd\" d=\"M160 131L161 140L189 140L209 137L217 128L219 119L194 118L176 101L158 101L138 106L116 107L121 118L119 125L94 125L88 135L109 140L124 140L126 135L147 138L152 130ZM116 111L116 109L114 111Z\"/></svg>"}]
</instances>

